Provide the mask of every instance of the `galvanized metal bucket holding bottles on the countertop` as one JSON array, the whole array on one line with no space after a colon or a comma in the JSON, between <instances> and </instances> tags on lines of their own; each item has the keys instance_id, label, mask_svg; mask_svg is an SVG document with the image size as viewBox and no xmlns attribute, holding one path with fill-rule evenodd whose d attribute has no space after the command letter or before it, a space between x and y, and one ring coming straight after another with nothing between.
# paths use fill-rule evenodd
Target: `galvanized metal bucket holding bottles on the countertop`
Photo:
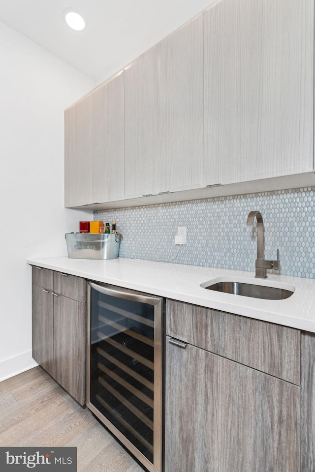
<instances>
[{"instance_id":1,"label":"galvanized metal bucket holding bottles on the countertop","mask_svg":"<svg viewBox=\"0 0 315 472\"><path fill-rule=\"evenodd\" d=\"M72 259L117 259L123 236L115 234L66 233L68 257Z\"/></svg>"}]
</instances>

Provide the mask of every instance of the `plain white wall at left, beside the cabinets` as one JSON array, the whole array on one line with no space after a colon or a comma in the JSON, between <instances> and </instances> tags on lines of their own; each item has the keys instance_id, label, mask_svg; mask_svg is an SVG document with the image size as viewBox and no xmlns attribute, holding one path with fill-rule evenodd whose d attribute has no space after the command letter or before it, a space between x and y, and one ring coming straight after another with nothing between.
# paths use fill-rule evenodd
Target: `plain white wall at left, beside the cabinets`
<instances>
[{"instance_id":1,"label":"plain white wall at left, beside the cabinets","mask_svg":"<svg viewBox=\"0 0 315 472\"><path fill-rule=\"evenodd\" d=\"M32 360L27 258L66 255L92 212L63 207L63 110L94 81L0 23L0 381Z\"/></svg>"}]
</instances>

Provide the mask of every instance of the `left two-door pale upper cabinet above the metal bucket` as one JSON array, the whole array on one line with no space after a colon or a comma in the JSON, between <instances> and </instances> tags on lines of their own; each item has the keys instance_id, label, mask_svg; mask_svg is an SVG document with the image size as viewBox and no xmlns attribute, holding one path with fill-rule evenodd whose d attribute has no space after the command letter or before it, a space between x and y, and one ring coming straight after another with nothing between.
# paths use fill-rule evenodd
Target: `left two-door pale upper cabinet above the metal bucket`
<instances>
[{"instance_id":1,"label":"left two-door pale upper cabinet above the metal bucket","mask_svg":"<svg viewBox=\"0 0 315 472\"><path fill-rule=\"evenodd\" d=\"M65 206L124 198L124 73L65 111Z\"/></svg>"}]
</instances>

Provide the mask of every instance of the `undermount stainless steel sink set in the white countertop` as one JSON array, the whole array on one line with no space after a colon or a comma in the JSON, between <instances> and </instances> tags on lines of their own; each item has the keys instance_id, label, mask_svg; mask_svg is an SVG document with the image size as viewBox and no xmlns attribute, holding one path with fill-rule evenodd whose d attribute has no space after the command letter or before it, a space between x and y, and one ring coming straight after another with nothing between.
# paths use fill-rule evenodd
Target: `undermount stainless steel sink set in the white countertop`
<instances>
[{"instance_id":1,"label":"undermount stainless steel sink set in the white countertop","mask_svg":"<svg viewBox=\"0 0 315 472\"><path fill-rule=\"evenodd\" d=\"M224 294L250 296L253 298L263 298L266 300L284 300L289 296L293 295L294 287L284 286L281 284L271 285L258 285L254 283L248 283L244 281L237 281L230 279L214 279L205 282L200 285L207 290L214 290L216 292L222 292Z\"/></svg>"}]
</instances>

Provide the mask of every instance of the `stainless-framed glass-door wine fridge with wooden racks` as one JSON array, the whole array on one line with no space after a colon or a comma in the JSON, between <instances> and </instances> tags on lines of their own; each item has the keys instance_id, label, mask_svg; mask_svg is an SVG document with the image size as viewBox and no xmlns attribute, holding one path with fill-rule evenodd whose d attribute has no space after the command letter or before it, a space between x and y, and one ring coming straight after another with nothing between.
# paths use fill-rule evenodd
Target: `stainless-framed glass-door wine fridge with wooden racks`
<instances>
[{"instance_id":1,"label":"stainless-framed glass-door wine fridge with wooden racks","mask_svg":"<svg viewBox=\"0 0 315 472\"><path fill-rule=\"evenodd\" d=\"M87 406L150 472L162 467L162 303L88 281Z\"/></svg>"}]
</instances>

